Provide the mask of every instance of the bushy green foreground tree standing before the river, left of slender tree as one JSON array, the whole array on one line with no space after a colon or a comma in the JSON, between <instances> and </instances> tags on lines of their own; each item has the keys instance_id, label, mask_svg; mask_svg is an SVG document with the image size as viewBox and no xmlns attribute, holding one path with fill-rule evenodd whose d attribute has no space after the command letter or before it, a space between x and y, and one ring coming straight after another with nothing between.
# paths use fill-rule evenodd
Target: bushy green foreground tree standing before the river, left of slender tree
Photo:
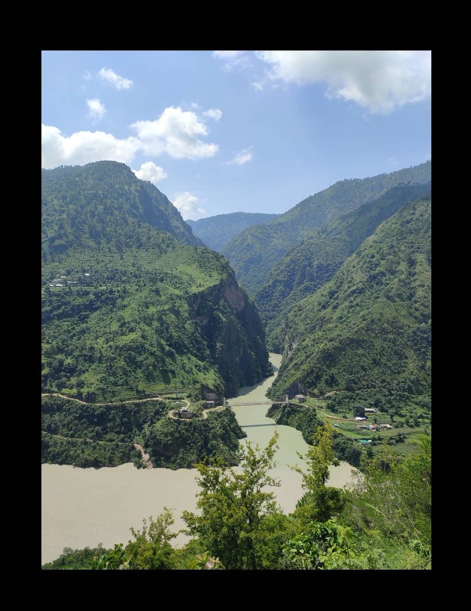
<instances>
[{"instance_id":1,"label":"bushy green foreground tree standing before the river, left of slender tree","mask_svg":"<svg viewBox=\"0 0 471 611\"><path fill-rule=\"evenodd\" d=\"M220 458L212 465L196 465L201 488L196 506L201 514L184 511L187 532L199 536L227 569L261 568L256 538L264 518L276 512L275 495L265 486L280 485L268 474L275 466L277 440L275 433L264 450L247 442L241 473Z\"/></svg>"}]
</instances>

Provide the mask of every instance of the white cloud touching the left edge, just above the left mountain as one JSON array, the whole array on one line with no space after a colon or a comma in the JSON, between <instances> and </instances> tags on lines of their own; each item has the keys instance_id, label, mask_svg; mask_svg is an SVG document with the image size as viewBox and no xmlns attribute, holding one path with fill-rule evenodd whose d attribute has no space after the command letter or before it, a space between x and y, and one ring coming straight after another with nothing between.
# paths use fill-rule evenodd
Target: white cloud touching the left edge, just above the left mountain
<instances>
[{"instance_id":1,"label":"white cloud touching the left edge, just above the left mountain","mask_svg":"<svg viewBox=\"0 0 471 611\"><path fill-rule=\"evenodd\" d=\"M91 161L121 161L129 164L141 148L138 138L119 139L104 131L77 131L62 136L52 125L42 125L42 155L44 168L61 165L83 166Z\"/></svg>"}]
</instances>

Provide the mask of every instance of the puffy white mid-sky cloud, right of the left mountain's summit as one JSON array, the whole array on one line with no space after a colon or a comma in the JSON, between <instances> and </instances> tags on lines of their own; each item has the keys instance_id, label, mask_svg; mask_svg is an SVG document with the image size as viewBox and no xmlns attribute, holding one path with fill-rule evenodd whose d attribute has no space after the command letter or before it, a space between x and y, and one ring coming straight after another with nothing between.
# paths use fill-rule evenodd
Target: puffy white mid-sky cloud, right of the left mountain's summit
<instances>
[{"instance_id":1,"label":"puffy white mid-sky cloud, right of the left mountain's summit","mask_svg":"<svg viewBox=\"0 0 471 611\"><path fill-rule=\"evenodd\" d=\"M155 121L137 121L131 125L136 130L146 155L168 153L175 159L212 157L218 145L202 142L199 136L207 136L206 125L193 111L182 111L169 106Z\"/></svg>"}]
</instances>

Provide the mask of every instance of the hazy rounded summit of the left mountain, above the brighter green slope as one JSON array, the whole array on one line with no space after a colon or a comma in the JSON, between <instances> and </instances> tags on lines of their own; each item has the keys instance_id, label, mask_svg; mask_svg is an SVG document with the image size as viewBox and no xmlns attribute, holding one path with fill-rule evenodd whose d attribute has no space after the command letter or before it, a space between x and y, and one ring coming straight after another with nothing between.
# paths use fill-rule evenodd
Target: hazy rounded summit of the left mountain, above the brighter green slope
<instances>
[{"instance_id":1,"label":"hazy rounded summit of the left mountain, above the brighter green slope","mask_svg":"<svg viewBox=\"0 0 471 611\"><path fill-rule=\"evenodd\" d=\"M124 163L42 170L43 262L70 251L140 247L152 228L180 244L201 246L179 211Z\"/></svg>"}]
</instances>

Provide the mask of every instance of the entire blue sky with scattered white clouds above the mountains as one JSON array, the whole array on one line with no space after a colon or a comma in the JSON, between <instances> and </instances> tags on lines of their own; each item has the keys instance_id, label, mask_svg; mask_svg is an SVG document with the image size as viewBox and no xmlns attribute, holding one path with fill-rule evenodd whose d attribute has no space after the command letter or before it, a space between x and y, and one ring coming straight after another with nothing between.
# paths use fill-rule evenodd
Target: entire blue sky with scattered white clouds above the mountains
<instances>
[{"instance_id":1,"label":"entire blue sky with scattered white clouds above the mountains","mask_svg":"<svg viewBox=\"0 0 471 611\"><path fill-rule=\"evenodd\" d=\"M185 219L431 158L429 51L43 51L42 166L114 159Z\"/></svg>"}]
</instances>

